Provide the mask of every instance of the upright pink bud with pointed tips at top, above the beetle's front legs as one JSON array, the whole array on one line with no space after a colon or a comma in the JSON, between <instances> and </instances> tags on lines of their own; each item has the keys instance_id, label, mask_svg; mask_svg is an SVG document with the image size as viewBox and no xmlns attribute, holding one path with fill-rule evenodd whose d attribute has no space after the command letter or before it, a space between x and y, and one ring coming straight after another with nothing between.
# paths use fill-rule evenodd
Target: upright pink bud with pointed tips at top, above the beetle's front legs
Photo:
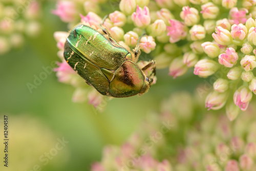
<instances>
[{"instance_id":1,"label":"upright pink bud with pointed tips at top, above the beetle's front legs","mask_svg":"<svg viewBox=\"0 0 256 171\"><path fill-rule=\"evenodd\" d=\"M142 10L138 5L136 12L132 14L132 20L134 22L134 25L139 28L144 28L148 25L150 25L150 10L145 6Z\"/></svg>"}]
</instances>

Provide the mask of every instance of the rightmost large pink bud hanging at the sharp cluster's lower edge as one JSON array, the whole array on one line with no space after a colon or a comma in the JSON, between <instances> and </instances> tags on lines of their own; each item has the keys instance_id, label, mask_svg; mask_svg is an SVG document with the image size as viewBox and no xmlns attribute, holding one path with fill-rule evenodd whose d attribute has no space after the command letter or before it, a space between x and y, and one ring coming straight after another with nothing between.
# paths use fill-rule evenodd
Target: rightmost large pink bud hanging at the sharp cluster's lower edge
<instances>
[{"instance_id":1,"label":"rightmost large pink bud hanging at the sharp cluster's lower edge","mask_svg":"<svg viewBox=\"0 0 256 171\"><path fill-rule=\"evenodd\" d=\"M239 108L242 111L246 111L251 98L252 98L252 93L245 86L241 86L240 88L238 88L238 90L234 93L234 96L233 96L234 104L239 106Z\"/></svg>"}]
</instances>

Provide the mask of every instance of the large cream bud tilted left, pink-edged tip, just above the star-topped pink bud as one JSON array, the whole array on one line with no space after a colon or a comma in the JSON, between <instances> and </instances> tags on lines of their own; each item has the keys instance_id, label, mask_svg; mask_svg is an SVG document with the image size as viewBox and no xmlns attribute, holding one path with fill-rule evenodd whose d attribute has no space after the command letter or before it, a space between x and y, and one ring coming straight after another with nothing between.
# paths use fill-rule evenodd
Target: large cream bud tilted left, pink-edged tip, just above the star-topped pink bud
<instances>
[{"instance_id":1,"label":"large cream bud tilted left, pink-edged tip, just above the star-topped pink bud","mask_svg":"<svg viewBox=\"0 0 256 171\"><path fill-rule=\"evenodd\" d=\"M220 26L216 27L216 33L212 33L212 37L220 45L230 45L232 41L230 32Z\"/></svg>"}]
</instances>

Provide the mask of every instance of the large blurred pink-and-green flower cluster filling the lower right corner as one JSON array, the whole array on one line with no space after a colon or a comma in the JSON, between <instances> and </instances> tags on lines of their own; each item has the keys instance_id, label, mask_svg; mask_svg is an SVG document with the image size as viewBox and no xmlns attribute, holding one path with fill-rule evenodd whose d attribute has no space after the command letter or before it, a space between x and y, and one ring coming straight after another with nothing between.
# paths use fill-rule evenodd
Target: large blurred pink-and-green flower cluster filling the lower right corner
<instances>
[{"instance_id":1,"label":"large blurred pink-and-green flower cluster filling the lower right corner","mask_svg":"<svg viewBox=\"0 0 256 171\"><path fill-rule=\"evenodd\" d=\"M197 99L178 92L164 100L121 146L106 146L91 170L255 170L255 103L230 122Z\"/></svg>"}]
</instances>

